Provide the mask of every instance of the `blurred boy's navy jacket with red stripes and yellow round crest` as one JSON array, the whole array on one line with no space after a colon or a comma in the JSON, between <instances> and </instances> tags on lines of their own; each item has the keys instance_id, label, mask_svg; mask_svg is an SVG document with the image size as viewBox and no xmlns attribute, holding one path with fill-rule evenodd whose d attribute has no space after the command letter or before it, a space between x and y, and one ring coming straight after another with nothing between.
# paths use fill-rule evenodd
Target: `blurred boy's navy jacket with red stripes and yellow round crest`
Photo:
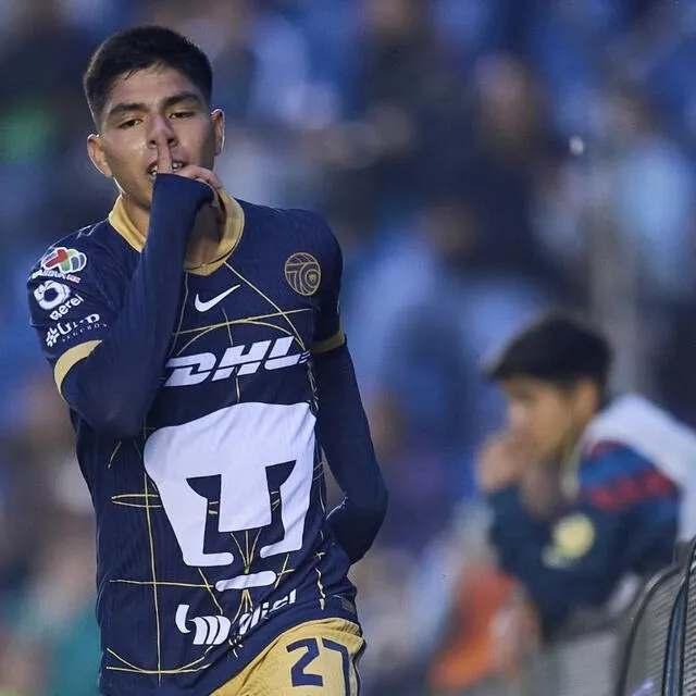
<instances>
[{"instance_id":1,"label":"blurred boy's navy jacket with red stripes and yellow round crest","mask_svg":"<svg viewBox=\"0 0 696 696\"><path fill-rule=\"evenodd\" d=\"M489 498L500 564L525 587L547 636L571 611L600 607L625 574L669 563L676 536L679 490L651 462L614 447L581 471L579 497L550 524L529 514L517 486Z\"/></svg>"}]
</instances>

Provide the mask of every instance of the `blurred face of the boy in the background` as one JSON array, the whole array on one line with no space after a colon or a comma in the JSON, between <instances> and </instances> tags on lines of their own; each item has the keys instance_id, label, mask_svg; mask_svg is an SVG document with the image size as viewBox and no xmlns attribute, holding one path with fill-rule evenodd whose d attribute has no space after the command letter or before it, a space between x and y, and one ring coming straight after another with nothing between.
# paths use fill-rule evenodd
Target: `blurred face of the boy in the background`
<instances>
[{"instance_id":1,"label":"blurred face of the boy in the background","mask_svg":"<svg viewBox=\"0 0 696 696\"><path fill-rule=\"evenodd\" d=\"M584 426L584 395L533 377L511 377L501 385L508 427L539 460L561 457Z\"/></svg>"}]
</instances>

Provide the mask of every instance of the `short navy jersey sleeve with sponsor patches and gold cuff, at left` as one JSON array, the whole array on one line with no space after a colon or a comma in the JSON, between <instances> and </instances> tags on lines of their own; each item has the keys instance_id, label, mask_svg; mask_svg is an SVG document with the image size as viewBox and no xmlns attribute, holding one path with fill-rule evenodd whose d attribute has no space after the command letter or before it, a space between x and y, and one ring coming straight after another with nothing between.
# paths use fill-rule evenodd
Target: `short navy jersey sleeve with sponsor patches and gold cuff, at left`
<instances>
[{"instance_id":1,"label":"short navy jersey sleeve with sponsor patches and gold cuff, at left","mask_svg":"<svg viewBox=\"0 0 696 696\"><path fill-rule=\"evenodd\" d=\"M99 345L115 318L98 281L98 259L86 246L51 247L27 283L30 323L59 390L71 368ZM66 272L53 270L61 260Z\"/></svg>"}]
</instances>

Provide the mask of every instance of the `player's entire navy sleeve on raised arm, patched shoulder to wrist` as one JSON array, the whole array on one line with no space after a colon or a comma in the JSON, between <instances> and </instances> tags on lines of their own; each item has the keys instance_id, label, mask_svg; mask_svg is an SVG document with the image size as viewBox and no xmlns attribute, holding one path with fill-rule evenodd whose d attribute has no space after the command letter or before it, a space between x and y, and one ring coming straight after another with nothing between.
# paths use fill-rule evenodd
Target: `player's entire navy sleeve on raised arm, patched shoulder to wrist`
<instances>
[{"instance_id":1,"label":"player's entire navy sleeve on raised arm, patched shoulder to wrist","mask_svg":"<svg viewBox=\"0 0 696 696\"><path fill-rule=\"evenodd\" d=\"M109 257L101 263L91 262L91 272L85 274L90 282L71 279L72 285L67 285L61 278L65 289L59 291L83 293L84 301L73 308L83 308L79 312L71 318L69 311L65 322L58 325L51 324L53 310L49 310L48 321L39 311L47 311L41 302L50 306L55 301L53 293L47 300L46 296L41 298L44 290L29 289L33 316L41 320L35 323L49 359L54 361L61 394L99 433L124 439L142 427L161 386L179 308L188 238L197 211L212 197L212 189L200 182L175 174L157 176L147 240L117 312L110 311L104 294L98 289L99 278L110 270ZM76 265L89 266L86 253L70 251L74 251L67 254L73 260L74 254L82 254ZM71 261L65 253L59 257L64 264L61 271L67 270ZM95 270L95 265L101 268ZM76 269L72 271L74 275Z\"/></svg>"}]
</instances>

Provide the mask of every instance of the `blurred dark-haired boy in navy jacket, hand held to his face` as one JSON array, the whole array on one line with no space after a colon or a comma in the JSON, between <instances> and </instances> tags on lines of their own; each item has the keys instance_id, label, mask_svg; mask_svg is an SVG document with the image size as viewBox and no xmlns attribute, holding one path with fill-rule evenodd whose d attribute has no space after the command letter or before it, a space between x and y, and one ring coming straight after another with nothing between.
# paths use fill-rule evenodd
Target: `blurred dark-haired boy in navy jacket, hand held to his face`
<instances>
[{"instance_id":1,"label":"blurred dark-haired boy in navy jacket, hand held to his face","mask_svg":"<svg viewBox=\"0 0 696 696\"><path fill-rule=\"evenodd\" d=\"M507 433L478 462L493 542L548 637L602 607L620 582L670 563L696 533L696 434L636 395L609 401L611 349L571 316L547 315L487 366Z\"/></svg>"}]
</instances>

